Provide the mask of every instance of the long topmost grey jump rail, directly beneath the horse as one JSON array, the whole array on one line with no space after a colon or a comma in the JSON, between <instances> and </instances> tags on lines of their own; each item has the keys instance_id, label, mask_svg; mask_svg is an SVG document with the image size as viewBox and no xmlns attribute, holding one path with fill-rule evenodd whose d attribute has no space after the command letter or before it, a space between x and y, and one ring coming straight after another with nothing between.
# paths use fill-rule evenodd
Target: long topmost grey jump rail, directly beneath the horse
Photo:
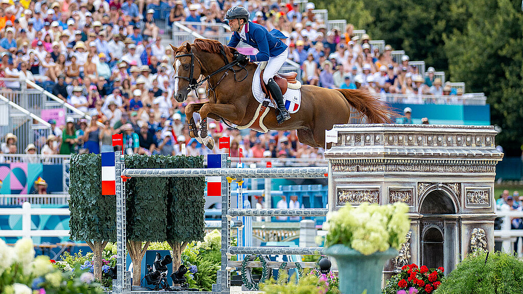
<instances>
[{"instance_id":1,"label":"long topmost grey jump rail, directly beneath the horse","mask_svg":"<svg viewBox=\"0 0 523 294\"><path fill-rule=\"evenodd\" d=\"M264 168L126 168L127 177L196 177L228 176L236 178L324 178L327 167Z\"/></svg>"}]
</instances>

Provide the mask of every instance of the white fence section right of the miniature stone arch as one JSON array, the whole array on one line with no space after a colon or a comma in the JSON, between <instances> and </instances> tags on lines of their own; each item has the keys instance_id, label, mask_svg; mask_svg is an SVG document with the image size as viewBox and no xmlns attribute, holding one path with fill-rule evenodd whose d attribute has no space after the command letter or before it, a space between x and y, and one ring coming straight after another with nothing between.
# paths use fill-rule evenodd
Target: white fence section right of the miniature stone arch
<instances>
[{"instance_id":1,"label":"white fence section right of the miniature stone arch","mask_svg":"<svg viewBox=\"0 0 523 294\"><path fill-rule=\"evenodd\" d=\"M523 218L523 211L496 211L498 217L503 218L501 230L494 230L494 239L502 241L505 252L514 252L514 243L517 238L523 238L523 230L511 230L511 218ZM517 253L523 257L523 239L519 240Z\"/></svg>"}]
</instances>

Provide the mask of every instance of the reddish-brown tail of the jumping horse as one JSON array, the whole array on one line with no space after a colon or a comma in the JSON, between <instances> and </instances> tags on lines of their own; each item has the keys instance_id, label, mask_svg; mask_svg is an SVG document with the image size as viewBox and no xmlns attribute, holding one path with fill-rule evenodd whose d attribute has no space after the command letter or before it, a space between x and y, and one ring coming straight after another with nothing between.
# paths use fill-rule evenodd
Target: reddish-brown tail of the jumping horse
<instances>
[{"instance_id":1,"label":"reddish-brown tail of the jumping horse","mask_svg":"<svg viewBox=\"0 0 523 294\"><path fill-rule=\"evenodd\" d=\"M367 117L369 123L389 123L394 114L389 107L367 90L337 89L349 104Z\"/></svg>"}]
</instances>

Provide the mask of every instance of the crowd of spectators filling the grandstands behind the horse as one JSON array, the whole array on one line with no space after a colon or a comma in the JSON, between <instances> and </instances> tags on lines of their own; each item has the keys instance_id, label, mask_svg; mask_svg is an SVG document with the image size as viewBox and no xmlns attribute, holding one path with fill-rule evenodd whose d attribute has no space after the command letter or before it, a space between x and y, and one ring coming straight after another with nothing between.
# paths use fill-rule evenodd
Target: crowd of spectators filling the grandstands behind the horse
<instances>
[{"instance_id":1,"label":"crowd of spectators filling the grandstands behind the horse","mask_svg":"<svg viewBox=\"0 0 523 294\"><path fill-rule=\"evenodd\" d=\"M155 19L159 8L170 9L167 23L185 20L202 33L215 33L232 5L244 5L252 21L277 28L289 38L289 59L302 67L304 83L328 88L371 92L456 94L441 85L429 68L426 78L408 65L408 56L395 60L392 48L372 48L370 37L327 30L312 12L313 3L249 0L2 0L0 2L0 88L17 91L21 80L35 81L52 94L92 116L91 121L67 118L62 126L50 120L51 134L35 130L35 144L26 153L70 154L113 150L111 135L122 133L124 150L139 154L199 155L209 151L188 135L185 107L204 101L199 88L184 103L173 99L173 51L162 44ZM453 92L452 92L453 91ZM198 97L197 97L198 96ZM99 122L99 126L97 123ZM231 137L231 155L251 157L321 157L321 150L300 144L296 131L259 134L225 128L210 120L210 135ZM5 136L3 153L17 153L16 136ZM7 138L9 137L9 138ZM184 149L183 146L186 146Z\"/></svg>"}]
</instances>

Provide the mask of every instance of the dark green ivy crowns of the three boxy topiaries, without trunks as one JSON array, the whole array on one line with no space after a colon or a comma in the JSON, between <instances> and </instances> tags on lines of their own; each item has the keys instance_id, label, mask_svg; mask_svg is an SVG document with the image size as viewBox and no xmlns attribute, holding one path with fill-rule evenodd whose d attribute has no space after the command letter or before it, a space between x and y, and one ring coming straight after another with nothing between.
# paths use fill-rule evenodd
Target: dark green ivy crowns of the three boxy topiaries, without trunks
<instances>
[{"instance_id":1,"label":"dark green ivy crowns of the three boxy topiaries, without trunks","mask_svg":"<svg viewBox=\"0 0 523 294\"><path fill-rule=\"evenodd\" d=\"M203 158L126 155L127 168L202 168ZM119 180L119 178L117 178ZM203 241L204 177L131 178L126 183L127 238ZM71 159L71 239L114 241L116 198L101 196L100 155Z\"/></svg>"}]
</instances>

